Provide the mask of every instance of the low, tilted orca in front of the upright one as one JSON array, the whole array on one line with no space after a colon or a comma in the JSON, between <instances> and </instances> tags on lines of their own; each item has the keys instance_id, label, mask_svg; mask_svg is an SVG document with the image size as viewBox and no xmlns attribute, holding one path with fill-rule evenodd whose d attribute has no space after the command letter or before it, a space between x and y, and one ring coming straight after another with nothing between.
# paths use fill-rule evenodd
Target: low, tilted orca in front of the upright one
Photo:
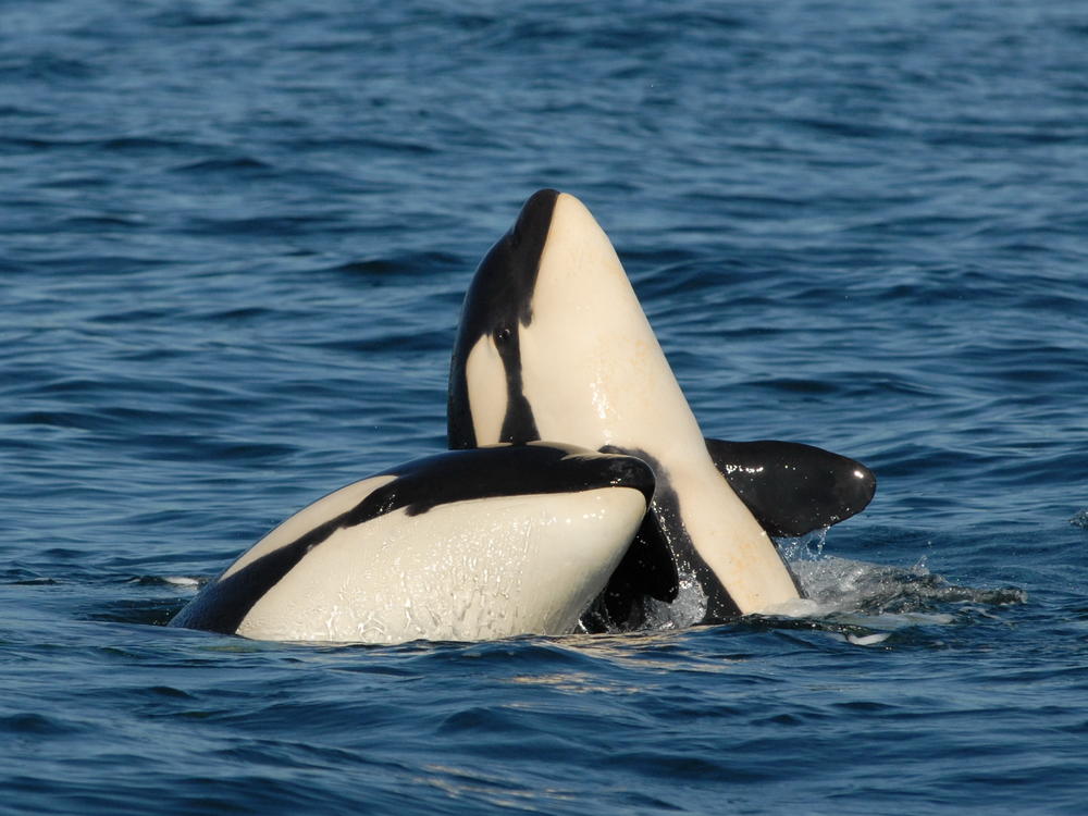
<instances>
[{"instance_id":1,"label":"low, tilted orca in front of the upright one","mask_svg":"<svg viewBox=\"0 0 1088 816\"><path fill-rule=\"evenodd\" d=\"M627 553L654 485L636 458L568 444L417 459L288 518L171 626L386 644L565 634Z\"/></svg>"}]
</instances>

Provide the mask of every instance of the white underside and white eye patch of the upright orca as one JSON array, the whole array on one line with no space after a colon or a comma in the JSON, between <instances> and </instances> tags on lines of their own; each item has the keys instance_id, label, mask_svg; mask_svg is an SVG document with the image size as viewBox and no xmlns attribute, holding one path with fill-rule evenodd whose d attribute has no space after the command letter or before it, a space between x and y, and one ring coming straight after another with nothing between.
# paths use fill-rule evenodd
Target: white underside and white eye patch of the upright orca
<instances>
[{"instance_id":1,"label":"white underside and white eye patch of the upright orca","mask_svg":"<svg viewBox=\"0 0 1088 816\"><path fill-rule=\"evenodd\" d=\"M672 533L690 539L742 614L796 601L774 542L710 460L611 242L570 195L556 199L530 306L520 376L539 436L645 455L658 495L665 487L679 505L679 519L666 519ZM499 438L502 371L481 337L466 369L478 444Z\"/></svg>"}]
</instances>

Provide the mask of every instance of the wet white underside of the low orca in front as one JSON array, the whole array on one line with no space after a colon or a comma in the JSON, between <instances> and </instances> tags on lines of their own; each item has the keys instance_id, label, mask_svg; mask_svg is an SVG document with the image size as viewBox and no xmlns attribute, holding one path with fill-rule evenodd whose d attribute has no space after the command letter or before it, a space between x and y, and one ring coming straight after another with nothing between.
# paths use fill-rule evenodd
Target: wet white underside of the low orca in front
<instances>
[{"instance_id":1,"label":"wet white underside of the low orca in front","mask_svg":"<svg viewBox=\"0 0 1088 816\"><path fill-rule=\"evenodd\" d=\"M396 510L322 542L237 633L359 643L564 634L608 580L644 509L638 491L604 489L558 502L514 496L419 516Z\"/></svg>"}]
</instances>

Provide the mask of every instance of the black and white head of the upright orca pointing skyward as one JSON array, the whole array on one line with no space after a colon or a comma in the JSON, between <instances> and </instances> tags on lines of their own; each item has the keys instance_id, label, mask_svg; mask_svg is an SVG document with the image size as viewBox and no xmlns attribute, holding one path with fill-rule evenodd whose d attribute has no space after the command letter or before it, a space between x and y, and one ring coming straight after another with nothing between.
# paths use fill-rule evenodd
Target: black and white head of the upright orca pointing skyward
<instances>
[{"instance_id":1,"label":"black and white head of the upright orca pointing skyward","mask_svg":"<svg viewBox=\"0 0 1088 816\"><path fill-rule=\"evenodd\" d=\"M541 190L484 257L465 297L449 446L625 444L613 431L639 406L645 371L682 401L608 236L577 198Z\"/></svg>"}]
</instances>

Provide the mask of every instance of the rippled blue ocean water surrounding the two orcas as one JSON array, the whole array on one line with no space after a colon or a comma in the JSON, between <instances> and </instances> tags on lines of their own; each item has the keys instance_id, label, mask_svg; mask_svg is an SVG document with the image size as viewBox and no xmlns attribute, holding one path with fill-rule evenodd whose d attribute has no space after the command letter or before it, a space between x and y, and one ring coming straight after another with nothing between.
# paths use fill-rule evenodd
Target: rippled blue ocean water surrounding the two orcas
<instances>
[{"instance_id":1,"label":"rippled blue ocean water surrounding the two orcas","mask_svg":"<svg viewBox=\"0 0 1088 816\"><path fill-rule=\"evenodd\" d=\"M802 618L394 647L164 623L444 446L536 188L708 435L875 469ZM0 811L1080 814L1088 9L0 1Z\"/></svg>"}]
</instances>

